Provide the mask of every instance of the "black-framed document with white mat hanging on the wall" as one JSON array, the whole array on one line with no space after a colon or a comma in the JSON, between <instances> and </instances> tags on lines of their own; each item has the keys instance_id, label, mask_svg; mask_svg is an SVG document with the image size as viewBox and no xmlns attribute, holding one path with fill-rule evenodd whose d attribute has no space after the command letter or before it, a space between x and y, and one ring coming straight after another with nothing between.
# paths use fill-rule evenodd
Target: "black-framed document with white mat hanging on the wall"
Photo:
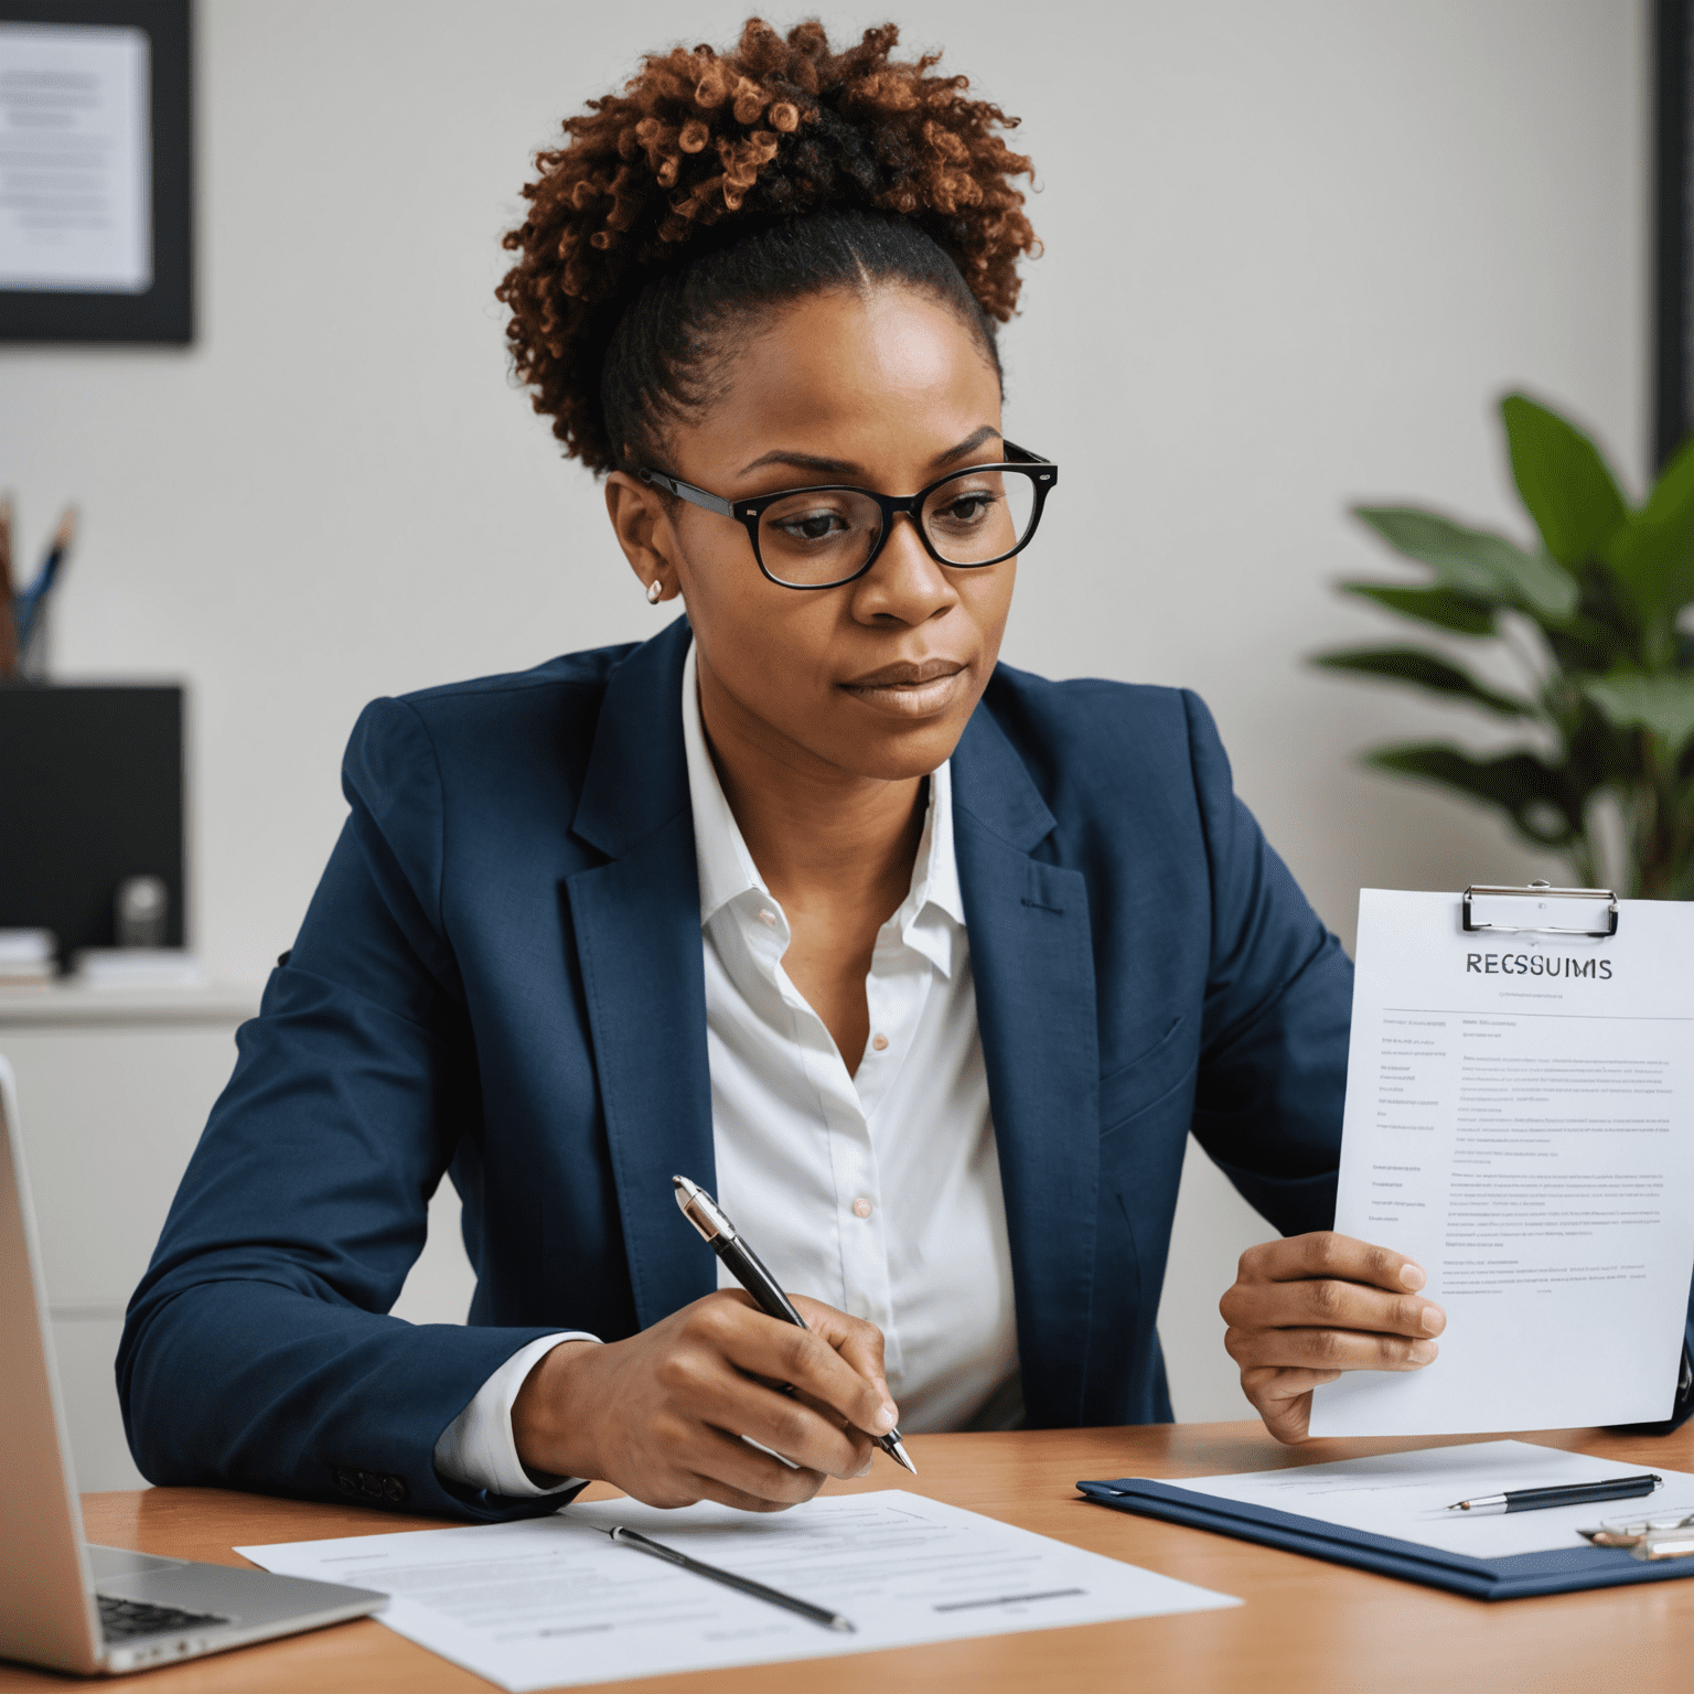
<instances>
[{"instance_id":1,"label":"black-framed document with white mat hanging on the wall","mask_svg":"<svg viewBox=\"0 0 1694 1694\"><path fill-rule=\"evenodd\" d=\"M0 0L0 340L193 339L190 0Z\"/></svg>"}]
</instances>

